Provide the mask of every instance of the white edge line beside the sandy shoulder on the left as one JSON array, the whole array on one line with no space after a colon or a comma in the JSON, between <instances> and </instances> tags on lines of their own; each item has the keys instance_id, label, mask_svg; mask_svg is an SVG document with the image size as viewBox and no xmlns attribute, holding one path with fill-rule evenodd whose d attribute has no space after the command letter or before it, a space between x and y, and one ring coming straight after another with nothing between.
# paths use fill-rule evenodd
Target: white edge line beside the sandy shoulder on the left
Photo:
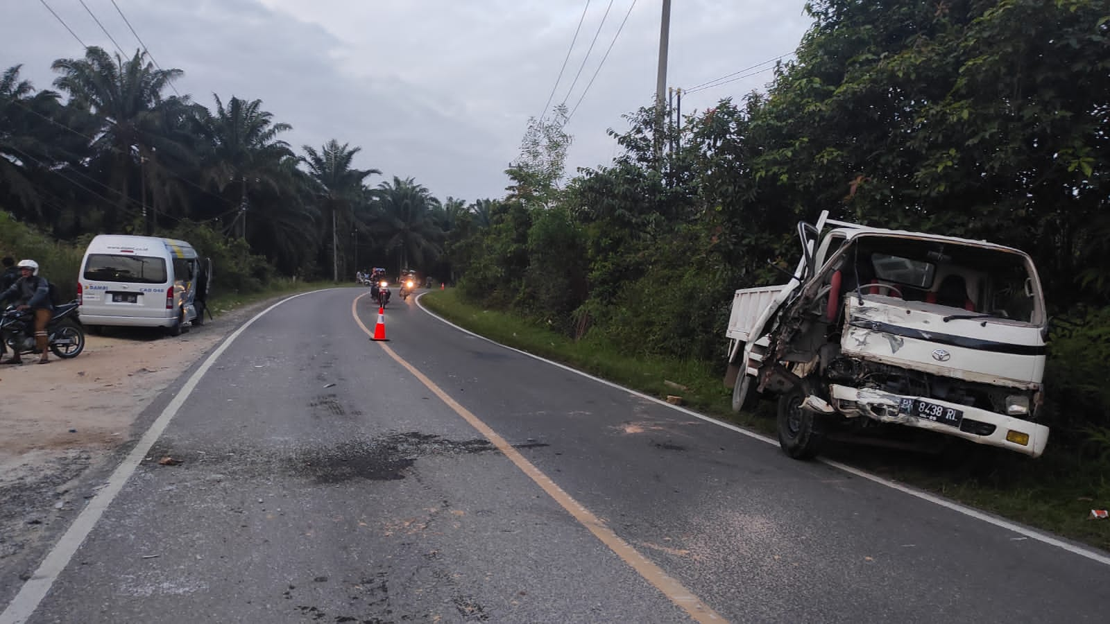
<instances>
[{"instance_id":1,"label":"white edge line beside the sandy shoulder on the left","mask_svg":"<svg viewBox=\"0 0 1110 624\"><path fill-rule=\"evenodd\" d=\"M34 574L26 583L23 583L19 593L16 594L16 597L11 600L11 603L8 604L8 607L3 611L3 613L0 613L0 624L22 624L23 622L27 622L31 614L34 613L34 610L39 607L39 603L42 602L42 598L47 596L50 587L54 584L58 575L65 570L67 565L69 565L70 560L73 558L77 550L81 547L84 539L89 536L92 527L95 526L97 522L100 520L100 516L103 515L108 506L115 500L115 496L121 490L123 490L123 485L134 473L135 469L139 467L139 463L147 456L147 453L150 451L151 446L154 445L154 442L157 442L162 435L162 432L165 431L167 425L169 425L173 416L176 415L178 410L180 410L184 402L189 399L193 389L195 389L196 384L200 383L201 378L203 378L204 373L212 368L212 364L215 363L216 359L228 350L231 343L239 338L239 334L243 333L246 328L254 323L254 321L261 319L263 314L270 312L274 308L278 308L282 303L305 294L312 294L314 292L322 291L302 292L274 303L270 308L266 308L262 312L252 316L250 321L246 321L242 326L232 332L231 335L223 339L220 346L218 346L216 350L204 360L204 363L201 364L192 376L189 378L189 381L181 386L181 390L178 391L178 394L170 401L170 404L167 405L158 419L151 423L150 429L147 430L147 433L144 433L139 440L139 443L131 450L127 459L124 459L123 462L117 466L115 471L112 472L112 475L108 477L108 485L102 487L92 497L92 500L89 501L84 509L81 510L81 513L73 520L70 527L61 536L58 543L54 544L53 548L50 550L47 557L42 560L39 568L34 571Z\"/></svg>"}]
</instances>

